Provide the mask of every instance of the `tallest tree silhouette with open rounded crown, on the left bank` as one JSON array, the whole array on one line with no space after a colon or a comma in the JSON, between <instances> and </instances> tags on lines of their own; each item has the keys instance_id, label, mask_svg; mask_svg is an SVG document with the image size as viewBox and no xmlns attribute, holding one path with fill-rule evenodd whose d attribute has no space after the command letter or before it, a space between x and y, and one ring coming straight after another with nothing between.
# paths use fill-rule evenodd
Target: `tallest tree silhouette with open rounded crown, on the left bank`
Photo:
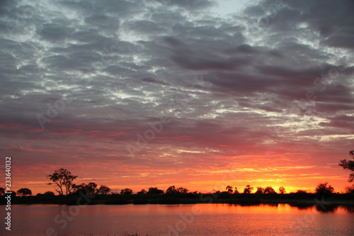
<instances>
[{"instance_id":1,"label":"tallest tree silhouette with open rounded crown, on the left bank","mask_svg":"<svg viewBox=\"0 0 354 236\"><path fill-rule=\"evenodd\" d=\"M55 191L59 193L60 196L68 195L72 191L72 182L77 178L77 176L72 175L72 172L69 172L67 169L56 169L53 174L47 176L47 179L50 179L52 183L48 185L55 184L57 185Z\"/></svg>"}]
</instances>

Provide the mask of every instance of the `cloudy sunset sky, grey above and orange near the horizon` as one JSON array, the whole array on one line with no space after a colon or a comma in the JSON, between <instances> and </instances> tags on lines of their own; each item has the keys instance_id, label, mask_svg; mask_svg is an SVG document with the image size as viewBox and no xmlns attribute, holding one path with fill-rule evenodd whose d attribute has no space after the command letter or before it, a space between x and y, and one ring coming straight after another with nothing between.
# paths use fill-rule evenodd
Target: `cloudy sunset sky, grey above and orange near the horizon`
<instances>
[{"instance_id":1,"label":"cloudy sunset sky, grey above and orange near the horizon","mask_svg":"<svg viewBox=\"0 0 354 236\"><path fill-rule=\"evenodd\" d=\"M0 3L0 150L113 191L341 191L354 149L354 2ZM5 184L3 158L0 186Z\"/></svg>"}]
</instances>

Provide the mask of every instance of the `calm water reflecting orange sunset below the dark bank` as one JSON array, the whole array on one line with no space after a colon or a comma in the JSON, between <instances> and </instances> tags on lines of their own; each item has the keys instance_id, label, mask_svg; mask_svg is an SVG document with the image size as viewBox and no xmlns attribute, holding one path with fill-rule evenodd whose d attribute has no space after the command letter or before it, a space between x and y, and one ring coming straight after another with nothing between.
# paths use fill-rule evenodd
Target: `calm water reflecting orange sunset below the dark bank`
<instances>
[{"instance_id":1,"label":"calm water reflecting orange sunset below the dark bank","mask_svg":"<svg viewBox=\"0 0 354 236\"><path fill-rule=\"evenodd\" d=\"M288 204L81 207L11 206L11 233L1 223L0 235L354 235L353 206L326 212Z\"/></svg>"}]
</instances>

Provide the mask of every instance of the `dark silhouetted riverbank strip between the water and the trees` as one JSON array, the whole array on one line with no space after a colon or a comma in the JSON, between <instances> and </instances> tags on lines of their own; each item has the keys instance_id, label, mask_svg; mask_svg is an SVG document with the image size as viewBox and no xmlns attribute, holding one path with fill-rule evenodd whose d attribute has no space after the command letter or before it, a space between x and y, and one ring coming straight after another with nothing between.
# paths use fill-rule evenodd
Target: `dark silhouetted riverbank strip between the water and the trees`
<instances>
[{"instance_id":1,"label":"dark silhouetted riverbank strip between the water and the trees","mask_svg":"<svg viewBox=\"0 0 354 236\"><path fill-rule=\"evenodd\" d=\"M295 196L292 193L278 194L274 196L256 196L256 194L239 194L237 196L218 196L215 194L195 194L189 196L124 196L124 195L106 195L106 196L13 196L11 204L55 204L55 205L125 205L125 204L196 204L196 203L228 203L241 205L258 204L280 204L290 205L324 205L324 206L354 206L354 196L348 194L336 194L333 196L318 196L313 193L307 193L306 196ZM6 205L6 200L1 198L1 205Z\"/></svg>"}]
</instances>

